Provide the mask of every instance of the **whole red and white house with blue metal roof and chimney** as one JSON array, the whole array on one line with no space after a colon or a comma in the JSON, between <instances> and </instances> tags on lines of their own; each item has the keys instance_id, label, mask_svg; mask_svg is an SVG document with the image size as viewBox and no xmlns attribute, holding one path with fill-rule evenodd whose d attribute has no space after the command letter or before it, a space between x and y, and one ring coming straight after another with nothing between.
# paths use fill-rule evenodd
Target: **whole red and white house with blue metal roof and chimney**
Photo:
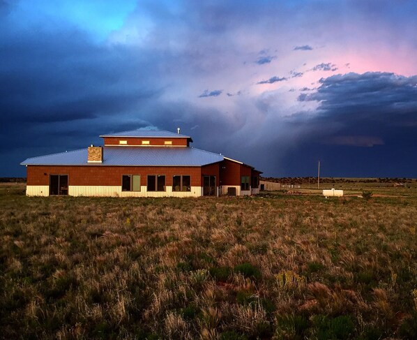
<instances>
[{"instance_id":1,"label":"whole red and white house with blue metal roof and chimney","mask_svg":"<svg viewBox=\"0 0 417 340\"><path fill-rule=\"evenodd\" d=\"M100 135L103 146L28 158L26 195L199 197L259 193L261 172L169 131Z\"/></svg>"}]
</instances>

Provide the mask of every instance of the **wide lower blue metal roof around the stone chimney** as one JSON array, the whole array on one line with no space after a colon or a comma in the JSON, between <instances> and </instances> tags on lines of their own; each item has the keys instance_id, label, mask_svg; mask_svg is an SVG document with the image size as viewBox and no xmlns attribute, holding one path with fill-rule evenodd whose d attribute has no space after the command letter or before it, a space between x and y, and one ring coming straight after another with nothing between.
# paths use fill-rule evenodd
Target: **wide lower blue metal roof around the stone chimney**
<instances>
[{"instance_id":1,"label":"wide lower blue metal roof around the stone chimney","mask_svg":"<svg viewBox=\"0 0 417 340\"><path fill-rule=\"evenodd\" d=\"M87 149L27 158L22 165L202 166L223 160L193 147L103 147L103 163L87 163Z\"/></svg>"}]
</instances>

